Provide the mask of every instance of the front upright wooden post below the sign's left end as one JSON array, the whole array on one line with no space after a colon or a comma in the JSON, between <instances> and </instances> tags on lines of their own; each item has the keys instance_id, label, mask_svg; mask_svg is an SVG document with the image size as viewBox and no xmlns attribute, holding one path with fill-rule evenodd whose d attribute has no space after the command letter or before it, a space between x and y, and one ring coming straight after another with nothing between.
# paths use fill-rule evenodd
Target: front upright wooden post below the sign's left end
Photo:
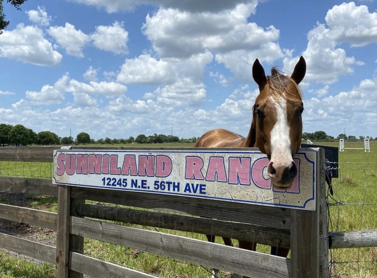
<instances>
[{"instance_id":1,"label":"front upright wooden post below the sign's left end","mask_svg":"<svg viewBox=\"0 0 377 278\"><path fill-rule=\"evenodd\" d=\"M58 185L56 277L68 278L70 186Z\"/></svg>"}]
</instances>

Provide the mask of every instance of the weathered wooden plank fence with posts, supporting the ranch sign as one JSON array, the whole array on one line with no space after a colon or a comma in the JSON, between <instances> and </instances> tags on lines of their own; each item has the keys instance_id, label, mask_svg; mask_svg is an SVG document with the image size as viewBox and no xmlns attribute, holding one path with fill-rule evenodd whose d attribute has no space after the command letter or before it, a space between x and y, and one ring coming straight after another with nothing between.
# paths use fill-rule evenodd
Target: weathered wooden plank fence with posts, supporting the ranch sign
<instances>
[{"instance_id":1,"label":"weathered wooden plank fence with posts, supporting the ranch sign","mask_svg":"<svg viewBox=\"0 0 377 278\"><path fill-rule=\"evenodd\" d=\"M81 149L81 147L74 148ZM0 148L0 161L52 162L53 149L54 147ZM323 149L318 149L316 211L141 192L123 191L120 194L116 190L55 186L51 179L0 176L1 192L58 197L57 213L0 204L0 218L57 230L56 247L0 233L0 248L56 264L59 278L82 277L83 274L91 277L155 277L84 255L83 238L119 244L248 277L327 278L329 276L328 226L323 161ZM181 211L205 218L123 207L96 206L86 204L85 200L147 209L163 207L167 210ZM291 258L281 258L162 232L105 223L85 217L126 223L132 223L132 221L137 223L138 220L143 219L142 222L146 226L158 224L160 228L232 237L254 243L267 245L278 243L279 247L290 247ZM228 221L239 223L230 226ZM331 247L344 247L342 238L345 236L341 233L332 235ZM365 245L360 242L358 244Z\"/></svg>"}]
</instances>

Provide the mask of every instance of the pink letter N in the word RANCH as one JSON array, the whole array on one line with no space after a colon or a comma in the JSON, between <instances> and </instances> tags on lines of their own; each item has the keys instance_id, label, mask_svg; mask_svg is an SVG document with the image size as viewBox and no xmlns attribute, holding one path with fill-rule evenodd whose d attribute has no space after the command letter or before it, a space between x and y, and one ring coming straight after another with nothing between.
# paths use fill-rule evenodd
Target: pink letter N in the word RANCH
<instances>
[{"instance_id":1,"label":"pink letter N in the word RANCH","mask_svg":"<svg viewBox=\"0 0 377 278\"><path fill-rule=\"evenodd\" d=\"M229 184L250 185L250 157L229 158Z\"/></svg>"}]
</instances>

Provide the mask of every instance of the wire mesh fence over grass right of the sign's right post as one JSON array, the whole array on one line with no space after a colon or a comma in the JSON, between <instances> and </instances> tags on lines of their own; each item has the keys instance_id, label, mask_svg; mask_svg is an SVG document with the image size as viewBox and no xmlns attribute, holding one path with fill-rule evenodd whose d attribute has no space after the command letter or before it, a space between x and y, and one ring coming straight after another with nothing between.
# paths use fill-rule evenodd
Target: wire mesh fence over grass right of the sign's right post
<instances>
[{"instance_id":1,"label":"wire mesh fence over grass right of the sign's right post","mask_svg":"<svg viewBox=\"0 0 377 278\"><path fill-rule=\"evenodd\" d=\"M377 159L374 153L343 152L328 194L329 234L377 230ZM350 246L351 247L351 246ZM377 277L377 247L329 250L331 277Z\"/></svg>"}]
</instances>

